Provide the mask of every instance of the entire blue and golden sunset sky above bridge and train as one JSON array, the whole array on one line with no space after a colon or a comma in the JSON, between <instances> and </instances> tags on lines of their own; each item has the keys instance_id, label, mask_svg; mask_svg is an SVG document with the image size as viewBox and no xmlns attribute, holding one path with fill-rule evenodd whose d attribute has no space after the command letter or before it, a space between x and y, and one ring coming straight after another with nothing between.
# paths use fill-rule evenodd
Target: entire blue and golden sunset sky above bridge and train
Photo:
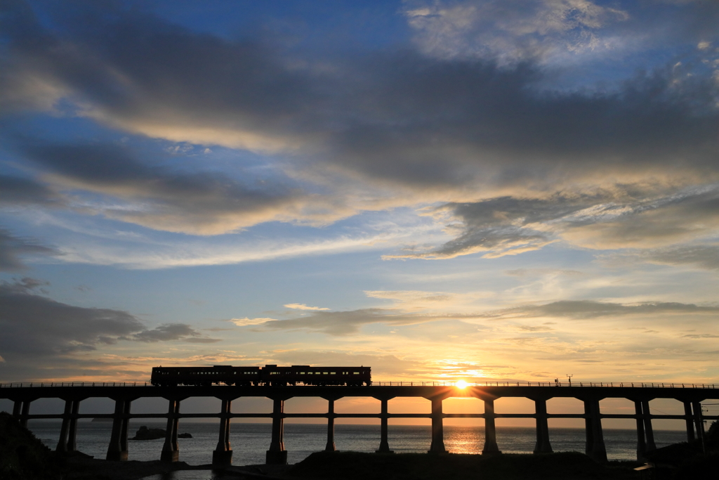
<instances>
[{"instance_id":1,"label":"entire blue and golden sunset sky above bridge and train","mask_svg":"<svg viewBox=\"0 0 719 480\"><path fill-rule=\"evenodd\" d=\"M719 3L0 4L0 381L719 383Z\"/></svg>"}]
</instances>

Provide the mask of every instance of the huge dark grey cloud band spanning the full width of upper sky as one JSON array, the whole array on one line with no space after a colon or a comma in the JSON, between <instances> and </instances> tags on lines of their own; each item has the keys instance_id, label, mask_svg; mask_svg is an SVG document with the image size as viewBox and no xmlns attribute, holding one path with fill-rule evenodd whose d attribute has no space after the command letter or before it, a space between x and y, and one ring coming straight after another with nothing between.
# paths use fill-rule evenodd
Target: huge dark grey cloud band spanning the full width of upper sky
<instances>
[{"instance_id":1,"label":"huge dark grey cloud band spanning the full width of upper sky","mask_svg":"<svg viewBox=\"0 0 719 480\"><path fill-rule=\"evenodd\" d=\"M547 93L534 88L544 73L528 63L412 50L290 61L258 42L113 13L86 6L82 22L58 17L68 33L52 35L24 15L27 27L6 34L12 71L61 85L93 106L88 114L129 130L291 150L401 184L717 173L708 76L670 68L613 93Z\"/></svg>"}]
</instances>

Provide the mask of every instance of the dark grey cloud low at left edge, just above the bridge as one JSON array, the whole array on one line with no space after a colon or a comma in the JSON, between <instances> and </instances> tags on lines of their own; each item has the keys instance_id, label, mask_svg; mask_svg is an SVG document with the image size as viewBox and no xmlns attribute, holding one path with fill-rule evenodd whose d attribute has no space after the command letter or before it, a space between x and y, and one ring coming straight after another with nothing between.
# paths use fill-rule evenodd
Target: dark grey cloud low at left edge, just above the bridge
<instances>
[{"instance_id":1,"label":"dark grey cloud low at left edge, just above the bridge","mask_svg":"<svg viewBox=\"0 0 719 480\"><path fill-rule=\"evenodd\" d=\"M111 345L119 340L203 339L188 325L168 324L147 330L137 317L122 310L75 307L56 302L38 294L38 287L43 285L46 283L34 279L0 284L0 304L3 306L0 309L0 354L6 360L96 350L99 345Z\"/></svg>"}]
</instances>

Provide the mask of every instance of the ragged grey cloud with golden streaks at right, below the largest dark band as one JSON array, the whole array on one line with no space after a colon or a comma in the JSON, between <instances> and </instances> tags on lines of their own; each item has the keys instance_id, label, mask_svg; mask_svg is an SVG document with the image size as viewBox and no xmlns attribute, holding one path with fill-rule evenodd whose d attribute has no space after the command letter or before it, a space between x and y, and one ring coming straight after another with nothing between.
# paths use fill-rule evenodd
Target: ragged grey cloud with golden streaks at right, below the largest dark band
<instances>
[{"instance_id":1,"label":"ragged grey cloud with golden streaks at right, below the largest dark band","mask_svg":"<svg viewBox=\"0 0 719 480\"><path fill-rule=\"evenodd\" d=\"M456 233L453 240L429 251L388 258L485 257L537 250L564 242L585 248L647 248L711 236L719 227L715 212L719 190L616 186L593 194L554 194L544 198L504 196L472 203L444 204ZM711 264L712 248L669 248L646 253L649 261Z\"/></svg>"}]
</instances>

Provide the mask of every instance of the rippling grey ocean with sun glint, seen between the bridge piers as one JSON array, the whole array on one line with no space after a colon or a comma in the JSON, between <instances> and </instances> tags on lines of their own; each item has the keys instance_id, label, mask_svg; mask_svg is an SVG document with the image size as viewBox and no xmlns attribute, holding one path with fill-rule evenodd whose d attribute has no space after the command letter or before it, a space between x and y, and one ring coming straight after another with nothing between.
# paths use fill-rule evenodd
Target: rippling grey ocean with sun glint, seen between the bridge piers
<instances>
[{"instance_id":1,"label":"rippling grey ocean with sun glint, seen between the bridge piers","mask_svg":"<svg viewBox=\"0 0 719 480\"><path fill-rule=\"evenodd\" d=\"M165 422L131 420L129 436L140 425L165 428ZM60 437L60 422L30 420L32 433L50 448L55 448ZM95 458L105 458L110 438L111 422L78 422L78 450ZM190 433L193 438L178 438L180 461L191 465L211 463L212 450L217 445L219 425L216 422L180 422L179 433ZM288 463L298 463L310 453L324 450L326 425L285 423L285 449ZM426 453L430 444L429 425L389 426L390 449L395 453ZM656 446L686 441L686 433L678 430L655 430ZM585 430L581 428L549 429L551 446L555 452L585 450ZM636 459L635 430L604 430L607 455L610 460ZM379 425L335 425L334 440L337 450L374 452L380 443ZM531 427L497 427L497 443L504 453L531 453L536 433ZM129 440L130 460L158 460L163 439ZM270 446L269 423L233 422L230 443L234 451L234 465L257 465L265 463L265 450ZM444 426L444 446L452 453L481 453L484 444L484 428L475 426ZM173 476L151 476L147 480L211 480L219 477L210 471L178 471Z\"/></svg>"}]
</instances>

